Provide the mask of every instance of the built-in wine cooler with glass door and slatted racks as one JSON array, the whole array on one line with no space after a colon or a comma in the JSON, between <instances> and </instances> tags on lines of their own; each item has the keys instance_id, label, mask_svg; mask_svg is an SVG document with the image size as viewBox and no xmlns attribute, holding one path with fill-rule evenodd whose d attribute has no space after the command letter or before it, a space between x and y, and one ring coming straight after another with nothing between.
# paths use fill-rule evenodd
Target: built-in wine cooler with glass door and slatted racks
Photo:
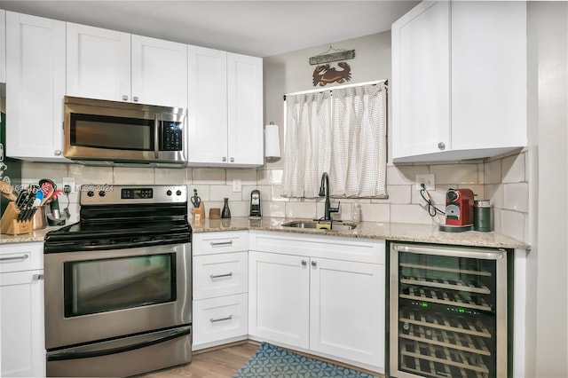
<instances>
[{"instance_id":1,"label":"built-in wine cooler with glass door and slatted racks","mask_svg":"<svg viewBox=\"0 0 568 378\"><path fill-rule=\"evenodd\" d=\"M390 244L390 376L508 376L507 252Z\"/></svg>"}]
</instances>

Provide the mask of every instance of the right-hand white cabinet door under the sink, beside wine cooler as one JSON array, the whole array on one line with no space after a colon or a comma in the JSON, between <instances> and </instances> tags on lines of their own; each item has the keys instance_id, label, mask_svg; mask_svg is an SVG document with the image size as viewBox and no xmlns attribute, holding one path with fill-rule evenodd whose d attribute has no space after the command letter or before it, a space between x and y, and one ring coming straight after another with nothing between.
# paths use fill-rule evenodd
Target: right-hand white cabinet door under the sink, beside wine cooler
<instances>
[{"instance_id":1,"label":"right-hand white cabinet door under the sink, beside wine cooler","mask_svg":"<svg viewBox=\"0 0 568 378\"><path fill-rule=\"evenodd\" d=\"M384 265L311 260L310 349L384 368Z\"/></svg>"}]
</instances>

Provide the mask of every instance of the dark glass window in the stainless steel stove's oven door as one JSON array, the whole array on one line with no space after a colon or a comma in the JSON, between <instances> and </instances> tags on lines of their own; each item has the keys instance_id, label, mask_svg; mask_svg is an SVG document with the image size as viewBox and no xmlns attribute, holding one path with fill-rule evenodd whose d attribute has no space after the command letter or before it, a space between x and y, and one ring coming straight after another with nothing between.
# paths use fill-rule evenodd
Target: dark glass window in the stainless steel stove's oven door
<instances>
[{"instance_id":1,"label":"dark glass window in the stainless steel stove's oven door","mask_svg":"<svg viewBox=\"0 0 568 378\"><path fill-rule=\"evenodd\" d=\"M174 253L63 264L65 317L175 302Z\"/></svg>"}]
</instances>

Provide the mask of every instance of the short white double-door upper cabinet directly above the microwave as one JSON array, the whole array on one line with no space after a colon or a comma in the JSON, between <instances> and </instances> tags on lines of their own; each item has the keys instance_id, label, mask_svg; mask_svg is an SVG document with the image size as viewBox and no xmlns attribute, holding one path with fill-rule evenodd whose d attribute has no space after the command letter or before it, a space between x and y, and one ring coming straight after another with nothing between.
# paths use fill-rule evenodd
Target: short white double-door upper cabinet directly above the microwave
<instances>
[{"instance_id":1,"label":"short white double-door upper cabinet directly above the microwave","mask_svg":"<svg viewBox=\"0 0 568 378\"><path fill-rule=\"evenodd\" d=\"M186 45L67 23L67 95L187 106Z\"/></svg>"}]
</instances>

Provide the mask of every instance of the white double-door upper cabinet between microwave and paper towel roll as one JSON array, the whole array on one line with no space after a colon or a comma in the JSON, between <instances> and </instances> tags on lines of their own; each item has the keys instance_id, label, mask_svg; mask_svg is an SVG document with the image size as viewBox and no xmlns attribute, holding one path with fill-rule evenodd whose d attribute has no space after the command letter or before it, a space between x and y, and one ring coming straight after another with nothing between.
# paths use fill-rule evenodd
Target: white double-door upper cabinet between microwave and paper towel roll
<instances>
[{"instance_id":1,"label":"white double-door upper cabinet between microwave and paper towel roll","mask_svg":"<svg viewBox=\"0 0 568 378\"><path fill-rule=\"evenodd\" d=\"M187 61L188 163L263 165L262 59L188 46Z\"/></svg>"}]
</instances>

